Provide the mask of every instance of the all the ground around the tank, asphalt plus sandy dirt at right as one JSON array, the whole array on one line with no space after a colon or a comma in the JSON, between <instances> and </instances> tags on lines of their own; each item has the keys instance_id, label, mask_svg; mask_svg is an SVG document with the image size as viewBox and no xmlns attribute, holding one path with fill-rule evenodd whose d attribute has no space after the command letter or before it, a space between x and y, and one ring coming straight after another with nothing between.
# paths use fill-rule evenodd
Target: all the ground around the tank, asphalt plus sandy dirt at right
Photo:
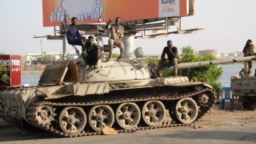
<instances>
[{"instance_id":1,"label":"all the ground around the tank, asphalt plus sandy dirt at right","mask_svg":"<svg viewBox=\"0 0 256 144\"><path fill-rule=\"evenodd\" d=\"M196 126L142 130L129 134L61 138L42 131L22 131L0 120L0 143L256 143L256 110L220 110L216 106Z\"/></svg>"}]
</instances>

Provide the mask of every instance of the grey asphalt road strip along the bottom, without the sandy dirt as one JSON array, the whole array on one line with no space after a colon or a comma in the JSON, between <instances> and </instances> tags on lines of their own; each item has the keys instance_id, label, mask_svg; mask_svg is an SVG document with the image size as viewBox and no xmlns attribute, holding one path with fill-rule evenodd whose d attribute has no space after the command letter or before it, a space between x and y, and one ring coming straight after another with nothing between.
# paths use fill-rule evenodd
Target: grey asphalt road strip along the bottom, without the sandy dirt
<instances>
[{"instance_id":1,"label":"grey asphalt road strip along the bottom, without the sandy dirt","mask_svg":"<svg viewBox=\"0 0 256 144\"><path fill-rule=\"evenodd\" d=\"M1 143L256 143L254 126L175 127L142 130L133 134L98 135L82 138L60 138L43 132L26 132L0 123Z\"/></svg>"}]
</instances>

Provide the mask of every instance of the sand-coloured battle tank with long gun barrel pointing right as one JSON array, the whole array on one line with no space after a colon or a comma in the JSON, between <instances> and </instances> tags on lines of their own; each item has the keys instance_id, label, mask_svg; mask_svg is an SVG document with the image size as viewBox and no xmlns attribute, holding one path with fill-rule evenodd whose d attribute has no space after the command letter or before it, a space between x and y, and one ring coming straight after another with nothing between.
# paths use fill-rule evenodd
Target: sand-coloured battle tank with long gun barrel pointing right
<instances>
[{"instance_id":1,"label":"sand-coloured battle tank with long gun barrel pointing right","mask_svg":"<svg viewBox=\"0 0 256 144\"><path fill-rule=\"evenodd\" d=\"M216 62L227 63L190 62L179 69ZM78 137L106 128L122 133L190 126L214 106L216 93L207 83L155 74L143 58L99 61L97 69L85 68L81 60L54 63L46 66L38 86L2 91L0 116L12 124Z\"/></svg>"}]
</instances>

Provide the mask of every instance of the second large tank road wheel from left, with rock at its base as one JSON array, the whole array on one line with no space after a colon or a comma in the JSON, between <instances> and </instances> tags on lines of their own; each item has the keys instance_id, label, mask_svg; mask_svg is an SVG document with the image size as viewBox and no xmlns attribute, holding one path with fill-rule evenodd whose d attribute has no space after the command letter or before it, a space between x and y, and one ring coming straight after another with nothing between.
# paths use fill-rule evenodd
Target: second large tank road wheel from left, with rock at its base
<instances>
[{"instance_id":1,"label":"second large tank road wheel from left, with rock at its base","mask_svg":"<svg viewBox=\"0 0 256 144\"><path fill-rule=\"evenodd\" d=\"M111 127L114 124L114 111L107 105L94 106L89 113L89 123L95 131L102 131L105 126Z\"/></svg>"}]
</instances>

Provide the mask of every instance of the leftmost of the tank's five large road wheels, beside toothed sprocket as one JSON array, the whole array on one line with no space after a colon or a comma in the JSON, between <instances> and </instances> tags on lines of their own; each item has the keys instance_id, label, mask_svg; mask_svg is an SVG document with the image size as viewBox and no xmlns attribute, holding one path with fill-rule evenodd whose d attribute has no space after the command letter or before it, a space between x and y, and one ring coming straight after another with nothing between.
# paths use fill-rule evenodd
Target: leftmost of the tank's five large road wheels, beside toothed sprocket
<instances>
[{"instance_id":1,"label":"leftmost of the tank's five large road wheels, beside toothed sprocket","mask_svg":"<svg viewBox=\"0 0 256 144\"><path fill-rule=\"evenodd\" d=\"M59 126L66 134L78 134L86 126L86 112L81 107L66 107L59 115Z\"/></svg>"}]
</instances>

